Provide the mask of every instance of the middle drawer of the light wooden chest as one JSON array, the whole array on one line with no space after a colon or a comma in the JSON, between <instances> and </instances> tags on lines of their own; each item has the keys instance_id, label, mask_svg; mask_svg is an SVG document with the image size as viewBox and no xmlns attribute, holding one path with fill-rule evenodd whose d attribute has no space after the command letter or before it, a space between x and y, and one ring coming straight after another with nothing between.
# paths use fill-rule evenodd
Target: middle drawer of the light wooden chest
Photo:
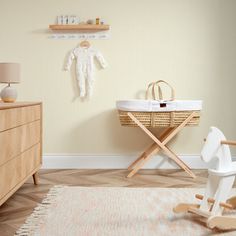
<instances>
[{"instance_id":1,"label":"middle drawer of the light wooden chest","mask_svg":"<svg viewBox=\"0 0 236 236\"><path fill-rule=\"evenodd\" d=\"M40 120L0 132L0 166L40 142Z\"/></svg>"}]
</instances>

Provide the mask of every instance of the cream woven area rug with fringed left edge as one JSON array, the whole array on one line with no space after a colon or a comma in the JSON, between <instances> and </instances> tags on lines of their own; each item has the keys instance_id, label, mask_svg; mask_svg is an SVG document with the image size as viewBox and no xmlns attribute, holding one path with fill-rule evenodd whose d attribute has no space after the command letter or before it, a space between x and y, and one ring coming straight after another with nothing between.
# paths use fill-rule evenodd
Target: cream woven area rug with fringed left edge
<instances>
[{"instance_id":1,"label":"cream woven area rug with fringed left edge","mask_svg":"<svg viewBox=\"0 0 236 236\"><path fill-rule=\"evenodd\" d=\"M16 235L152 236L213 235L189 214L175 214L180 202L197 203L190 188L55 186ZM233 234L231 234L233 233ZM231 232L230 235L236 235ZM220 234L222 235L222 234ZM227 234L228 235L228 234Z\"/></svg>"}]
</instances>

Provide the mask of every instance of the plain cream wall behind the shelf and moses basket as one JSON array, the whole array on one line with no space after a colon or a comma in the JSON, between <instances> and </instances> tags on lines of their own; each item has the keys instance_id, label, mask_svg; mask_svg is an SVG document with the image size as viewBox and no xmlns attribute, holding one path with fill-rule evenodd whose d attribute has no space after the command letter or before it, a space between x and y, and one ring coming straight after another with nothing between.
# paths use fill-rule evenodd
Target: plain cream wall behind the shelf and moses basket
<instances>
[{"instance_id":1,"label":"plain cream wall behind the shelf and moses basket","mask_svg":"<svg viewBox=\"0 0 236 236\"><path fill-rule=\"evenodd\" d=\"M210 125L236 138L236 1L233 0L0 0L0 61L20 62L20 100L44 104L44 152L128 154L150 140L122 128L118 99L141 97L146 85L165 79L179 99L202 99L201 124L171 145L197 154ZM92 41L109 63L97 70L94 96L82 102L74 77L63 71L76 40L49 39L57 15L101 16L111 39Z\"/></svg>"}]
</instances>

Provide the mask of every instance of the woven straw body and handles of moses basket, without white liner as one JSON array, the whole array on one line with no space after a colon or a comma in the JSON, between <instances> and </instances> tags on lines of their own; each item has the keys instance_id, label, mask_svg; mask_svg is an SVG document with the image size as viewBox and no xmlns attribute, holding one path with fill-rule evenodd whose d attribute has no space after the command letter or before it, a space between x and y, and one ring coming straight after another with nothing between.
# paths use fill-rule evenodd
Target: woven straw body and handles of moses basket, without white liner
<instances>
[{"instance_id":1,"label":"woven straw body and handles of moses basket, without white liner","mask_svg":"<svg viewBox=\"0 0 236 236\"><path fill-rule=\"evenodd\" d=\"M152 82L148 85L146 91L146 99L148 99L149 90L152 89L152 99L162 100L162 91L159 86L160 83L165 83L171 88L171 98L169 101L174 100L174 89L165 81L159 80ZM155 93L155 87L158 87L159 99ZM120 123L122 126L137 127L137 124L128 116L128 111L118 110ZM192 112L195 116L188 122L187 126L198 125L200 121L200 111L171 111L171 112L139 112L132 111L131 113L146 127L175 127L180 125L185 119L188 118Z\"/></svg>"}]
</instances>

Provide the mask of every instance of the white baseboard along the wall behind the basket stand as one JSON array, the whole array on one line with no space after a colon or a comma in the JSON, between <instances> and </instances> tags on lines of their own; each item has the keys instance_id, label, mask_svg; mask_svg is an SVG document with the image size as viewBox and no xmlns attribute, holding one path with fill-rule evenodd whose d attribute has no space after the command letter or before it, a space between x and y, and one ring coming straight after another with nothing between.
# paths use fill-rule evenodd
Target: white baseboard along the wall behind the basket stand
<instances>
[{"instance_id":1,"label":"white baseboard along the wall behind the basket stand","mask_svg":"<svg viewBox=\"0 0 236 236\"><path fill-rule=\"evenodd\" d=\"M88 155L88 154L45 154L44 169L126 169L138 155ZM199 155L179 156L191 169L207 169ZM154 156L145 169L177 169L173 161L165 156Z\"/></svg>"}]
</instances>

